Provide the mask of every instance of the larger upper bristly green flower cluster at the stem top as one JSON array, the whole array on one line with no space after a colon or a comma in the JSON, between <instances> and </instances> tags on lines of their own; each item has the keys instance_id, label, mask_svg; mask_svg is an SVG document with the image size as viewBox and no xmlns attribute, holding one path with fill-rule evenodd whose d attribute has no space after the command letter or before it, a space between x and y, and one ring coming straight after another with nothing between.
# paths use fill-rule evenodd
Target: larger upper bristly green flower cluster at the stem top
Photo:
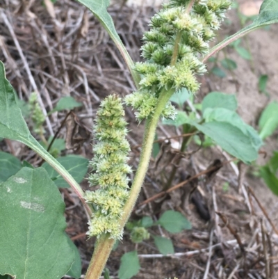
<instances>
[{"instance_id":1,"label":"larger upper bristly green flower cluster at the stem top","mask_svg":"<svg viewBox=\"0 0 278 279\"><path fill-rule=\"evenodd\" d=\"M186 88L195 93L199 89L195 74L206 72L199 58L208 52L213 31L219 29L230 6L231 0L170 0L152 17L141 48L146 61L134 65L140 88L125 99L138 111L139 121L152 115L163 90ZM171 104L162 116L174 118Z\"/></svg>"}]
</instances>

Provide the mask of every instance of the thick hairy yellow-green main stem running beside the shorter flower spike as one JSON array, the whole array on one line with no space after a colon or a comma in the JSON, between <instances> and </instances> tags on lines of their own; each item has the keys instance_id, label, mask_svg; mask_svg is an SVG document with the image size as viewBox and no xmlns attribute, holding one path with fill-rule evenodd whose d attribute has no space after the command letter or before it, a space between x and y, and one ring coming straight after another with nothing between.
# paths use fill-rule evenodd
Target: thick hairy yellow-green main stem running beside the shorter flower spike
<instances>
[{"instance_id":1,"label":"thick hairy yellow-green main stem running beside the shorter flower spike","mask_svg":"<svg viewBox=\"0 0 278 279\"><path fill-rule=\"evenodd\" d=\"M147 120L138 169L131 186L129 200L127 200L126 205L124 206L124 214L119 220L121 228L124 228L124 225L129 219L133 207L136 204L136 200L139 196L142 184L145 180L145 175L149 166L149 159L152 156L152 146L154 143L156 126L158 124L159 117L163 109L165 108L165 105L167 104L173 93L173 89L163 91L161 93L161 97L159 97L158 99L158 106L156 107L156 111L154 111L152 117L149 117ZM101 276L101 272L104 269L104 266L108 260L114 244L114 240L109 239L108 237L108 235L104 234L97 241L97 246L95 248L94 254L92 255L92 260L90 262L90 266L86 273L85 279L97 279L99 278L99 276Z\"/></svg>"}]
</instances>

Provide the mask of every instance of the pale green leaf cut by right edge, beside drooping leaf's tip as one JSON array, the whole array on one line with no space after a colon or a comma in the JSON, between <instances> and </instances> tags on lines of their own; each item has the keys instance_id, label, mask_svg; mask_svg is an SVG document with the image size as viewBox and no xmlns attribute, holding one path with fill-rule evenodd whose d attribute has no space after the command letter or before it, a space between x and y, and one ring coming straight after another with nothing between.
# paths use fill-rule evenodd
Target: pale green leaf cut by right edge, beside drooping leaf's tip
<instances>
[{"instance_id":1,"label":"pale green leaf cut by right edge, beside drooping leaf's tip","mask_svg":"<svg viewBox=\"0 0 278 279\"><path fill-rule=\"evenodd\" d=\"M278 102L271 102L261 113L259 119L260 136L262 139L271 136L278 127Z\"/></svg>"}]
</instances>

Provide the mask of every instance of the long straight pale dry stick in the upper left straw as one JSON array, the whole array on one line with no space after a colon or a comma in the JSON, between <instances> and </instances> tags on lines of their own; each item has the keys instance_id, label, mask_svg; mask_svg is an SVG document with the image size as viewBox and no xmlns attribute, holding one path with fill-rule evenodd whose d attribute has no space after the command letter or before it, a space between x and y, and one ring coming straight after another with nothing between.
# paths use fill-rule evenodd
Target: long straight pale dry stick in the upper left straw
<instances>
[{"instance_id":1,"label":"long straight pale dry stick in the upper left straw","mask_svg":"<svg viewBox=\"0 0 278 279\"><path fill-rule=\"evenodd\" d=\"M31 73L31 70L30 70L30 68L29 68L29 66L28 66L28 63L27 63L27 61L26 61L26 58L25 58L25 56L24 56L24 54L23 54L22 48L21 48L20 45L19 45L19 42L18 42L18 40L17 40L17 36L15 35L15 32L13 31L13 26L10 25L10 22L9 22L9 20L8 20L8 17L5 15L5 13L3 13L3 10L2 10L2 9L0 9L0 15L1 15L1 17L3 18L3 22L4 22L4 23L6 24L6 26L8 27L8 30L10 31L10 35L12 35L12 37L13 37L13 41L15 42L15 47L17 47L17 51L18 51L18 53L19 53L19 56L20 56L20 58L22 59L22 62L23 62L24 67L25 67L25 70L26 70L26 72L27 72L27 74L28 74L28 79L29 79L30 82L31 82L31 85L32 85L32 87L33 87L33 90L35 91L35 93L36 93L37 96L38 96L38 102L40 103L40 107L41 107L42 112L43 112L43 114L44 114L44 116L45 116L45 120L46 120L46 122L47 122L47 127L48 127L48 129L49 129L49 133L50 133L51 136L54 136L54 132L53 132L53 129L52 129L52 127L51 127L50 120L49 120L49 118L48 118L48 116L47 116L47 111L46 111L46 109L45 109L45 107L44 107L44 104L43 104L43 102L42 102L42 98L40 97L40 93L39 93L38 87L37 87L37 85L36 85L36 83L35 83L35 79L33 78L33 75L32 75L32 73Z\"/></svg>"}]
</instances>

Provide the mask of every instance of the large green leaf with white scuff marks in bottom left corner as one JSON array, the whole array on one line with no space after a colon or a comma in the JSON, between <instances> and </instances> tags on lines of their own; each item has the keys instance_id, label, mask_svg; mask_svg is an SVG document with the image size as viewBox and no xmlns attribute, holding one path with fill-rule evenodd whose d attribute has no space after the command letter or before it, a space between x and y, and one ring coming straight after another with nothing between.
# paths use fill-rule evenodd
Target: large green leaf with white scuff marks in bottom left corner
<instances>
[{"instance_id":1,"label":"large green leaf with white scuff marks in bottom left corner","mask_svg":"<svg viewBox=\"0 0 278 279\"><path fill-rule=\"evenodd\" d=\"M43 168L22 168L0 184L0 273L17 279L64 276L74 261L64 211Z\"/></svg>"}]
</instances>

